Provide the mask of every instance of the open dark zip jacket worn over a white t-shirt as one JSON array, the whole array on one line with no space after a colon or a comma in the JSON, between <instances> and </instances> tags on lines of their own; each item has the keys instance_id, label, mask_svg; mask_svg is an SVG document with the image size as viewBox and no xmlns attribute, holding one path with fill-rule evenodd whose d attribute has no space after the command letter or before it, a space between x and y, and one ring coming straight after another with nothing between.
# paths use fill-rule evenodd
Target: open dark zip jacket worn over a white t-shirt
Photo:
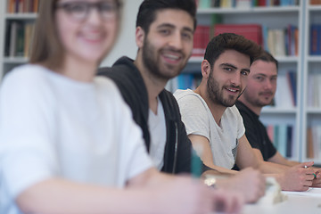
<instances>
[{"instance_id":1,"label":"open dark zip jacket worn over a white t-shirt","mask_svg":"<svg viewBox=\"0 0 321 214\"><path fill-rule=\"evenodd\" d=\"M114 80L121 95L130 106L133 118L142 128L146 148L152 151L151 133L148 123L149 99L144 79L135 62L128 57L122 57L111 68L102 68L100 75ZM166 127L166 143L161 171L168 173L190 172L192 144L188 142L185 126L180 119L177 102L173 95L162 89L158 95L161 101ZM204 167L205 168L205 167ZM206 168L205 168L206 169Z\"/></svg>"}]
</instances>

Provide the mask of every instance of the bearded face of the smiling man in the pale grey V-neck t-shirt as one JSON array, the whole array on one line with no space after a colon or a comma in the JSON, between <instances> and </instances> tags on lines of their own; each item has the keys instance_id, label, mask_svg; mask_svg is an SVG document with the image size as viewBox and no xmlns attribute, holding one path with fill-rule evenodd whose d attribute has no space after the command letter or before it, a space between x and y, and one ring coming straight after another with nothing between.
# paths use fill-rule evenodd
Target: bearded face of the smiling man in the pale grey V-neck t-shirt
<instances>
[{"instance_id":1,"label":"bearded face of the smiling man in the pale grey V-neck t-shirt","mask_svg":"<svg viewBox=\"0 0 321 214\"><path fill-rule=\"evenodd\" d=\"M231 107L242 95L250 73L250 57L235 50L222 53L207 81L207 95L211 102Z\"/></svg>"}]
</instances>

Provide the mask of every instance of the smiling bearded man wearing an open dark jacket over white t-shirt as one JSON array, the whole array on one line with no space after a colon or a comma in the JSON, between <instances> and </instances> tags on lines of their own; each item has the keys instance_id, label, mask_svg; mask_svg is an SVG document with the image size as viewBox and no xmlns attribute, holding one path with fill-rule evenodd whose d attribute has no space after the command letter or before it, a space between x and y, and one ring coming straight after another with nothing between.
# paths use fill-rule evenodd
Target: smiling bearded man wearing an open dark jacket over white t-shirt
<instances>
[{"instance_id":1,"label":"smiling bearded man wearing an open dark jacket over white t-shirt","mask_svg":"<svg viewBox=\"0 0 321 214\"><path fill-rule=\"evenodd\" d=\"M192 53L195 13L194 0L145 0L136 20L136 60L121 57L111 68L98 71L119 87L143 130L155 167L173 174L193 171L192 144L177 101L165 86L184 69ZM202 172L209 169L202 164ZM218 179L216 185L238 190L245 202L256 202L265 189L264 178L253 169Z\"/></svg>"}]
</instances>

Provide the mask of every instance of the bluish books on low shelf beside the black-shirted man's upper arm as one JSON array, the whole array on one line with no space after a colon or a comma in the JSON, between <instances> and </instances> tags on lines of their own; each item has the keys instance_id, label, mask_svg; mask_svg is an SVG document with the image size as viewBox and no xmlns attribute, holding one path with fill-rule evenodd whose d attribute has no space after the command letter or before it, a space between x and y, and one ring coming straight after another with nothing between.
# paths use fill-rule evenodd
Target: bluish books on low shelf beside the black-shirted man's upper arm
<instances>
[{"instance_id":1,"label":"bluish books on low shelf beside the black-shirted man's upper arm","mask_svg":"<svg viewBox=\"0 0 321 214\"><path fill-rule=\"evenodd\" d=\"M277 124L267 125L268 137L276 147L277 152L280 152L286 158L292 158L296 153L295 146L295 131L292 125Z\"/></svg>"}]
</instances>

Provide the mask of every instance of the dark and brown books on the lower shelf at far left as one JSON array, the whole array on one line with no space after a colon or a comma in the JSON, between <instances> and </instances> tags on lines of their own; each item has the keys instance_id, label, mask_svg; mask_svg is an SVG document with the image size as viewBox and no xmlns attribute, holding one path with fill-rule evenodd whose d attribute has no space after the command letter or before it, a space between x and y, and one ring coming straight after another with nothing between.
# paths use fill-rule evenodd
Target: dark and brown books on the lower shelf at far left
<instances>
[{"instance_id":1,"label":"dark and brown books on the lower shelf at far left","mask_svg":"<svg viewBox=\"0 0 321 214\"><path fill-rule=\"evenodd\" d=\"M7 57L29 57L34 29L34 22L8 21L5 30L4 55Z\"/></svg>"}]
</instances>

